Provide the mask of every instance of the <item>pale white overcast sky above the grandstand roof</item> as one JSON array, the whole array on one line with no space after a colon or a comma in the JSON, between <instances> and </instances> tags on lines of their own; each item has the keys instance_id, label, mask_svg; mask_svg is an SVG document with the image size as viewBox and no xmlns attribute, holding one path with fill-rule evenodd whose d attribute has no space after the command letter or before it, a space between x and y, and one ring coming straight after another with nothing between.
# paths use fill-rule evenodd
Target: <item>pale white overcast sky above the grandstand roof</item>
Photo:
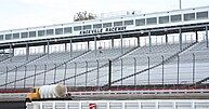
<instances>
[{"instance_id":1,"label":"pale white overcast sky above the grandstand roof","mask_svg":"<svg viewBox=\"0 0 209 109\"><path fill-rule=\"evenodd\" d=\"M71 23L78 12L140 11L153 13L179 9L180 0L0 0L0 31ZM182 9L209 6L209 0L182 0Z\"/></svg>"}]
</instances>

